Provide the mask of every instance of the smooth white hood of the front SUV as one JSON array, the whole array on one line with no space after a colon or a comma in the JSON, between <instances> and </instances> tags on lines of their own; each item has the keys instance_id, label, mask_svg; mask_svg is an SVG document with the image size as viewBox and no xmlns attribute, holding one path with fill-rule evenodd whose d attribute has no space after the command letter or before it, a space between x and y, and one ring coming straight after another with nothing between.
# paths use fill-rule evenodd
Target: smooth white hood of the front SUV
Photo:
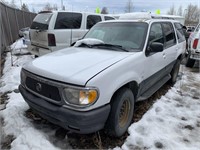
<instances>
[{"instance_id":1,"label":"smooth white hood of the front SUV","mask_svg":"<svg viewBox=\"0 0 200 150\"><path fill-rule=\"evenodd\" d=\"M66 48L39 57L24 66L34 74L76 85L85 85L102 70L133 53L90 48Z\"/></svg>"}]
</instances>

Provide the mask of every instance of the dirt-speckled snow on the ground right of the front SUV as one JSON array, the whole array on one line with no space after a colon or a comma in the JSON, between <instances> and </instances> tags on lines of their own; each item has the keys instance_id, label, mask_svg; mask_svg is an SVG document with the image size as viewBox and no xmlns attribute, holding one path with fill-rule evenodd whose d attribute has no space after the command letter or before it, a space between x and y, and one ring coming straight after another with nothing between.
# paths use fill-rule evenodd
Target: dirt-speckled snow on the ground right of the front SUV
<instances>
[{"instance_id":1,"label":"dirt-speckled snow on the ground right of the front SUV","mask_svg":"<svg viewBox=\"0 0 200 150\"><path fill-rule=\"evenodd\" d=\"M182 80L131 125L123 149L200 149L200 73L181 69Z\"/></svg>"}]
</instances>

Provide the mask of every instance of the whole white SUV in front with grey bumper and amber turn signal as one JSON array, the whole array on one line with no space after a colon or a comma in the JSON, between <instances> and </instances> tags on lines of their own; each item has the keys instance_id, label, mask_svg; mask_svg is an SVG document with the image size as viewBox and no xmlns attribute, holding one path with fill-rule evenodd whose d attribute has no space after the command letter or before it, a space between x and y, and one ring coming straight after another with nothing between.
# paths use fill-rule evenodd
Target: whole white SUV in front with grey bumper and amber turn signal
<instances>
[{"instance_id":1,"label":"whole white SUV in front with grey bumper and amber turn signal","mask_svg":"<svg viewBox=\"0 0 200 150\"><path fill-rule=\"evenodd\" d=\"M176 82L186 42L174 20L96 24L73 47L39 57L21 71L19 90L42 117L77 133L129 127L134 104Z\"/></svg>"}]
</instances>

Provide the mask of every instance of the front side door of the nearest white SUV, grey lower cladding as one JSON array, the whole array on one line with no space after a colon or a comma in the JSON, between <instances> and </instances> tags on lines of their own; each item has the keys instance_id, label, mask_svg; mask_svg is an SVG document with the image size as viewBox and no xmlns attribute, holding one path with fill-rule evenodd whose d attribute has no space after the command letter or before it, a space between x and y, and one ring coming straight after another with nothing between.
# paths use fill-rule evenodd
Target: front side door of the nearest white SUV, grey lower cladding
<instances>
[{"instance_id":1,"label":"front side door of the nearest white SUV, grey lower cladding","mask_svg":"<svg viewBox=\"0 0 200 150\"><path fill-rule=\"evenodd\" d=\"M145 80L141 85L141 94L145 93L145 91L154 86L166 75L165 66L167 63L164 51L148 53L150 44L153 42L164 45L164 34L160 22L154 22L150 27L148 43L145 51L146 58L144 59L144 65L146 68L144 70Z\"/></svg>"}]
</instances>

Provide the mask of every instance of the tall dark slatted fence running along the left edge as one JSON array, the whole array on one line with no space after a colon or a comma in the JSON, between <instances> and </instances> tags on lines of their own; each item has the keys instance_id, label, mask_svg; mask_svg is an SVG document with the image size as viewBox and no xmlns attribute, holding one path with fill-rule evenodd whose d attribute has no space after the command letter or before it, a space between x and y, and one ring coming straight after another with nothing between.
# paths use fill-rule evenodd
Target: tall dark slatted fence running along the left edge
<instances>
[{"instance_id":1,"label":"tall dark slatted fence running along the left edge","mask_svg":"<svg viewBox=\"0 0 200 150\"><path fill-rule=\"evenodd\" d=\"M0 52L19 38L19 30L30 27L35 13L22 11L0 2Z\"/></svg>"}]
</instances>

